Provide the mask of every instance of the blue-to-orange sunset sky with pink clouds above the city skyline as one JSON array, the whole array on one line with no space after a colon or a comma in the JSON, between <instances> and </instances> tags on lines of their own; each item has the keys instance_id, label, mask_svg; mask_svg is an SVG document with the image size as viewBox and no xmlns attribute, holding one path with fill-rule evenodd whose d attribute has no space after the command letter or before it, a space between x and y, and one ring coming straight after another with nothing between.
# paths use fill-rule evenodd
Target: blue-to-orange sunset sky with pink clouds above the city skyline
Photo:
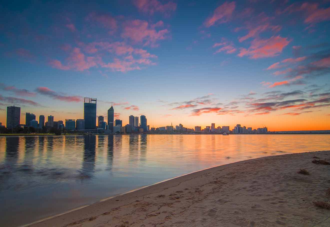
<instances>
[{"instance_id":1,"label":"blue-to-orange sunset sky with pink clouds above the city skyline","mask_svg":"<svg viewBox=\"0 0 330 227\"><path fill-rule=\"evenodd\" d=\"M123 124L330 129L330 1L82 2L0 4L4 125L90 97Z\"/></svg>"}]
</instances>

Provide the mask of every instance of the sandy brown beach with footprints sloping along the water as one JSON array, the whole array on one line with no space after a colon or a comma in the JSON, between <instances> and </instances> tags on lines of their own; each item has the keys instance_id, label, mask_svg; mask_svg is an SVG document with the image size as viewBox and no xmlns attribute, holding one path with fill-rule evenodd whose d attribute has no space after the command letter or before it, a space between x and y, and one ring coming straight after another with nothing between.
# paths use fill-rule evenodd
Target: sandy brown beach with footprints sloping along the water
<instances>
[{"instance_id":1,"label":"sandy brown beach with footprints sloping along the water","mask_svg":"<svg viewBox=\"0 0 330 227\"><path fill-rule=\"evenodd\" d=\"M39 226L330 226L327 201L330 151L251 159L154 184L80 210L29 225ZM300 168L310 175L299 174Z\"/></svg>"}]
</instances>

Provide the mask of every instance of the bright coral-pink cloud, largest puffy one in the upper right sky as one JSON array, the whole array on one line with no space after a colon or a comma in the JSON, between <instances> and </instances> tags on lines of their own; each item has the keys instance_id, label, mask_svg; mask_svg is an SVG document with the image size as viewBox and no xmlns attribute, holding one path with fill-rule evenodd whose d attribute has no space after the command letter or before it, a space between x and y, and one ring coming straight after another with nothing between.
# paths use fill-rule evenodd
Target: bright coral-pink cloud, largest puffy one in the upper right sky
<instances>
[{"instance_id":1,"label":"bright coral-pink cloud, largest puffy one in the upper right sky","mask_svg":"<svg viewBox=\"0 0 330 227\"><path fill-rule=\"evenodd\" d=\"M287 46L290 41L287 38L280 36L272 36L267 40L253 40L248 49L241 48L238 56L243 57L248 55L250 58L266 58L279 55L283 48Z\"/></svg>"}]
</instances>

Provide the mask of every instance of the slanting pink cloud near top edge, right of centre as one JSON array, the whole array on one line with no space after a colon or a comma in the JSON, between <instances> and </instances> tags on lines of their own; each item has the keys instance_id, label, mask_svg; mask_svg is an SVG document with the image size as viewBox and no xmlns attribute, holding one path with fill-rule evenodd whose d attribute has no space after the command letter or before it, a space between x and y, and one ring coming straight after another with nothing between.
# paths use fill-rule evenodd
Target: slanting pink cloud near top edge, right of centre
<instances>
[{"instance_id":1,"label":"slanting pink cloud near top edge, right of centre","mask_svg":"<svg viewBox=\"0 0 330 227\"><path fill-rule=\"evenodd\" d=\"M210 27L217 23L226 23L228 22L235 10L235 2L225 2L221 6L217 7L213 15L206 19L204 25Z\"/></svg>"}]
</instances>

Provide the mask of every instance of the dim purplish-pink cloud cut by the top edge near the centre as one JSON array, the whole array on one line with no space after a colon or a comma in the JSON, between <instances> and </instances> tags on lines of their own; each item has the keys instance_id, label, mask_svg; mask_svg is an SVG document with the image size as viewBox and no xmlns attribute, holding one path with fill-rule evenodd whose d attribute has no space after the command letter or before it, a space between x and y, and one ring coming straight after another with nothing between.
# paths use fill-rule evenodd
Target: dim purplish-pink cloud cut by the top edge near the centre
<instances>
[{"instance_id":1,"label":"dim purplish-pink cloud cut by the top edge near the centre","mask_svg":"<svg viewBox=\"0 0 330 227\"><path fill-rule=\"evenodd\" d=\"M162 4L157 0L133 0L133 4L139 9L139 11L150 15L155 12L160 12L165 16L169 16L177 9L177 4L174 2Z\"/></svg>"}]
</instances>

